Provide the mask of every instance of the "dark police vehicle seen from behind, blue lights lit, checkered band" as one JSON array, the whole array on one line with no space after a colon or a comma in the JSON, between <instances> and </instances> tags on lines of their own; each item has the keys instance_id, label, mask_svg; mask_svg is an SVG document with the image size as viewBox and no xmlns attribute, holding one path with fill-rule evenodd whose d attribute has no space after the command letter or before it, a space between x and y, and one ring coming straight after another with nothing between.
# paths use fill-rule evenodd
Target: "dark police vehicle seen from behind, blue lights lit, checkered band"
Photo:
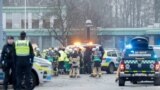
<instances>
[{"instance_id":1,"label":"dark police vehicle seen from behind, blue lights lit, checkered band","mask_svg":"<svg viewBox=\"0 0 160 90\"><path fill-rule=\"evenodd\" d=\"M148 46L148 39L136 37L131 40L132 48L126 48L119 65L119 86L126 81L137 84L140 81L153 81L160 85L160 67L157 56L152 47Z\"/></svg>"}]
</instances>

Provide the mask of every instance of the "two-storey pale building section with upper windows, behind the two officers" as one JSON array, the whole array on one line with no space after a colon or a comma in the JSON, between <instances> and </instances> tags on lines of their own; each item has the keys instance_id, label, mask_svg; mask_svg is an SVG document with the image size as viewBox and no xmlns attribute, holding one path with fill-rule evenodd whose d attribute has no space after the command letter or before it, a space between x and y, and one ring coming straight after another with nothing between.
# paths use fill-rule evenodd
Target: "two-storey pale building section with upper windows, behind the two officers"
<instances>
[{"instance_id":1,"label":"two-storey pale building section with upper windows, behind the two officers","mask_svg":"<svg viewBox=\"0 0 160 90\"><path fill-rule=\"evenodd\" d=\"M56 16L44 17L52 12L47 7L27 7L25 15L24 7L3 7L3 30L6 36L12 35L16 39L20 31L26 31L28 39L41 49L58 46L59 42L47 32L57 21Z\"/></svg>"}]
</instances>

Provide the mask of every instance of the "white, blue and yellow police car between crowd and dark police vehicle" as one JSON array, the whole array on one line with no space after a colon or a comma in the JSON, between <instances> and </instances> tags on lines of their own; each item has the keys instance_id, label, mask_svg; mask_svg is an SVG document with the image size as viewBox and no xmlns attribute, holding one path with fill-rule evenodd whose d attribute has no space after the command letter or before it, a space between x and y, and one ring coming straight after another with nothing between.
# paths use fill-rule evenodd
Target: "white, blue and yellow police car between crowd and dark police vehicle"
<instances>
[{"instance_id":1,"label":"white, blue and yellow police car between crowd and dark police vehicle","mask_svg":"<svg viewBox=\"0 0 160 90\"><path fill-rule=\"evenodd\" d=\"M116 49L105 50L102 60L102 71L106 71L109 74L113 74L119 66L121 60L121 52Z\"/></svg>"}]
</instances>

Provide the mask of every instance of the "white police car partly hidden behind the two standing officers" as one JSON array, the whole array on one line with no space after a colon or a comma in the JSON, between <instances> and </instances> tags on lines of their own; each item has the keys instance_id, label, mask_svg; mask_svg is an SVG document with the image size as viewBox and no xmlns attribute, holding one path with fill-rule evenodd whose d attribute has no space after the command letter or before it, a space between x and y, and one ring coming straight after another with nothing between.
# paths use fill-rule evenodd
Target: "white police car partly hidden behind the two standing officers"
<instances>
[{"instance_id":1,"label":"white police car partly hidden behind the two standing officers","mask_svg":"<svg viewBox=\"0 0 160 90\"><path fill-rule=\"evenodd\" d=\"M35 57L31 73L32 88L39 85L40 83L44 83L44 81L51 81L52 75L53 75L52 64L45 59ZM4 73L0 68L0 84L3 84L3 79L4 79ZM11 81L12 80L10 80L10 83L12 84Z\"/></svg>"}]
</instances>

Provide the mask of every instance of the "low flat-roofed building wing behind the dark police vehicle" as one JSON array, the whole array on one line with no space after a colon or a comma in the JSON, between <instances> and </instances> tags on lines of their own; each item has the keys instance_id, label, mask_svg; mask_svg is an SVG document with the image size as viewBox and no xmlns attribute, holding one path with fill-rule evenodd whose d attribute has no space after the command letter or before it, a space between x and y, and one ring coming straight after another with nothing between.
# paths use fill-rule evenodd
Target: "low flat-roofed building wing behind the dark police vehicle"
<instances>
[{"instance_id":1,"label":"low flat-roofed building wing behind the dark police vehicle","mask_svg":"<svg viewBox=\"0 0 160 90\"><path fill-rule=\"evenodd\" d=\"M150 45L160 45L160 28L99 28L98 36L105 48L122 50L136 36L147 37Z\"/></svg>"}]
</instances>

